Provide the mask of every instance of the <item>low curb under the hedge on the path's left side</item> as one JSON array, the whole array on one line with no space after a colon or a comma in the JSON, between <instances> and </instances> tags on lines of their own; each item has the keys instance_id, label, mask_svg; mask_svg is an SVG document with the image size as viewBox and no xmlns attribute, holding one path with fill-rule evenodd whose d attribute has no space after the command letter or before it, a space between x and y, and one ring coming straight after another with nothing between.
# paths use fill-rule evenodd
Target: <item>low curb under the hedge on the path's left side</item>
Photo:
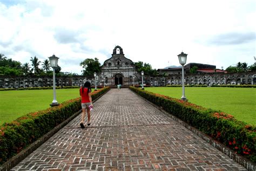
<instances>
[{"instance_id":1,"label":"low curb under the hedge on the path's left side","mask_svg":"<svg viewBox=\"0 0 256 171\"><path fill-rule=\"evenodd\" d=\"M109 90L107 90L105 93L107 93ZM105 93L100 95L98 98L96 98L92 102L97 101ZM35 151L39 146L41 146L44 142L46 142L49 138L51 138L52 135L56 134L61 128L63 128L65 125L67 125L71 120L75 119L81 112L82 112L82 109L79 110L78 112L74 113L71 117L69 117L68 119L63 121L61 124L59 124L55 128L53 128L50 132L43 135L37 141L33 142L29 147L23 149L23 151L21 151L20 153L18 153L14 157L12 157L10 160L3 163L3 165L0 167L0 170L5 171L5 170L10 170L11 168L15 167L19 162L21 162L28 155L30 155L33 151Z\"/></svg>"}]
</instances>

